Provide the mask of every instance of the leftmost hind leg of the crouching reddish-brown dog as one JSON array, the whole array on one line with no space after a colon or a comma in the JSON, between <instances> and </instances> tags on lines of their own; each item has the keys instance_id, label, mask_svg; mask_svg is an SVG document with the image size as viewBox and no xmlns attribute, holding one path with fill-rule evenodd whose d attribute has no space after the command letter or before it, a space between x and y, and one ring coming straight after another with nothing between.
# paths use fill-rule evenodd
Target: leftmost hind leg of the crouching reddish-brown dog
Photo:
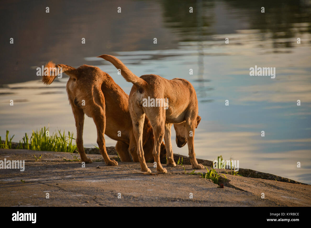
<instances>
[{"instance_id":1,"label":"leftmost hind leg of the crouching reddish-brown dog","mask_svg":"<svg viewBox=\"0 0 311 228\"><path fill-rule=\"evenodd\" d=\"M76 143L77 143L77 147L78 147L78 152L80 154L81 157L81 161L85 162L85 163L92 163L92 160L86 157L85 151L84 151L84 147L83 147L83 125L84 125L84 112L81 108L78 108L77 106L75 106L75 104L73 104L73 102L71 102L72 105L72 112L73 115L75 117L75 121L76 121L76 128L77 128L77 138L76 138Z\"/></svg>"}]
</instances>

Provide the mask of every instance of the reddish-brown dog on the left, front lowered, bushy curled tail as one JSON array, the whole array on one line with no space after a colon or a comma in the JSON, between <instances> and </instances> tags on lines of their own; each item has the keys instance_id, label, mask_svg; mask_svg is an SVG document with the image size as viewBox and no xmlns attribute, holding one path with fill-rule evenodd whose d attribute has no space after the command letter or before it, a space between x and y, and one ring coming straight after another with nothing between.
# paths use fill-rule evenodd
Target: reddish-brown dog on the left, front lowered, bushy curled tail
<instances>
[{"instance_id":1,"label":"reddish-brown dog on the left, front lowered, bushy curled tail","mask_svg":"<svg viewBox=\"0 0 311 228\"><path fill-rule=\"evenodd\" d=\"M84 114L86 114L95 122L97 143L106 165L118 165L118 162L110 160L105 147L104 134L118 141L115 148L121 161L131 161L129 155L131 153L132 160L138 162L137 143L128 109L128 94L114 82L109 74L98 67L88 65L75 69L68 65L55 65L49 62L45 67L49 68L49 72L43 76L42 81L47 85L51 84L60 72L66 72L69 75L66 90L76 121L76 142L81 161L92 162L86 157L83 147L82 134ZM145 159L153 162L154 136L148 118L143 120L143 129L142 145L146 151ZM162 143L161 156L164 154L165 145Z\"/></svg>"}]
</instances>

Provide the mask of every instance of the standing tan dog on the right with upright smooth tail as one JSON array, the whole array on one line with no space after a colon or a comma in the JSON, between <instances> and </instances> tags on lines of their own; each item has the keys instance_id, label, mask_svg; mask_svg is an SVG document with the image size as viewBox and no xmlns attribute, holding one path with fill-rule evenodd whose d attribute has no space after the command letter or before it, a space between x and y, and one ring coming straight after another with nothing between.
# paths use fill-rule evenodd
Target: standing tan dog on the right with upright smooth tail
<instances>
[{"instance_id":1,"label":"standing tan dog on the right with upright smooth tail","mask_svg":"<svg viewBox=\"0 0 311 228\"><path fill-rule=\"evenodd\" d=\"M160 163L160 145L163 138L165 140L167 165L176 166L171 145L171 127L173 124L176 131L177 146L183 147L188 142L192 168L204 169L202 164L197 163L194 153L194 129L197 128L201 117L198 116L197 95L190 82L180 78L167 80L153 74L137 77L114 56L100 55L98 57L111 62L117 69L121 69L121 74L125 80L134 84L129 95L129 109L142 171L151 172L144 159L143 123L145 115L149 118L153 128L155 144L152 154L157 163L157 173L167 173L167 170ZM168 99L168 106L146 107L146 99Z\"/></svg>"}]
</instances>

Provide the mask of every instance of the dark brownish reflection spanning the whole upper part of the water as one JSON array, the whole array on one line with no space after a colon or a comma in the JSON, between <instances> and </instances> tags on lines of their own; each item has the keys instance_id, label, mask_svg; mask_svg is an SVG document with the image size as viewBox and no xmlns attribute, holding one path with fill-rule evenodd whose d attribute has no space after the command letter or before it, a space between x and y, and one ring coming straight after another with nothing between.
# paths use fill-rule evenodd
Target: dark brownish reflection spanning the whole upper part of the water
<instances>
[{"instance_id":1,"label":"dark brownish reflection spanning the whole upper part of the water","mask_svg":"<svg viewBox=\"0 0 311 228\"><path fill-rule=\"evenodd\" d=\"M58 7L61 4L62 7ZM45 13L45 7L50 13ZM117 7L122 13L117 13ZM260 8L265 7L265 13ZM189 13L193 7L194 13ZM70 9L70 10L68 10ZM215 34L258 29L272 51L293 47L284 38L310 33L308 1L4 1L1 5L1 84L36 79L46 61L84 64L84 58L114 51L178 48L178 42L215 40ZM307 23L306 26L295 26ZM295 27L295 29L293 29ZM269 35L266 33L269 32ZM10 38L14 44L10 44ZM86 44L81 44L81 38ZM153 45L153 38L158 43ZM281 39L281 40L280 40ZM221 40L223 40L221 38ZM309 41L308 41L309 42ZM202 54L198 43L198 53ZM155 57L155 56L154 56ZM202 58L198 64L202 67ZM92 63L90 63L92 64ZM203 69L200 69L199 79Z\"/></svg>"}]
</instances>

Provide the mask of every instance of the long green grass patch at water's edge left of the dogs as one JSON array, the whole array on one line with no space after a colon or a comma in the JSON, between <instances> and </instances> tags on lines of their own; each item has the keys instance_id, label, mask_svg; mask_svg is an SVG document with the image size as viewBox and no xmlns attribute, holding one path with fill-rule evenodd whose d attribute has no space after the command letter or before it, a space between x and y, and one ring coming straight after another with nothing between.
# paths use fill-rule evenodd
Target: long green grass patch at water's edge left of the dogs
<instances>
[{"instance_id":1,"label":"long green grass patch at water's edge left of the dogs","mask_svg":"<svg viewBox=\"0 0 311 228\"><path fill-rule=\"evenodd\" d=\"M36 151L56 151L56 152L74 152L77 150L77 145L73 143L73 133L68 131L68 134L63 134L60 130L53 133L52 136L47 136L46 131L48 129L41 128L40 130L32 131L32 134L29 138L28 134L25 133L25 136L19 141L17 149L27 149L27 150L36 150ZM9 137L9 131L7 131L5 142L2 143L0 137L0 146L4 149L12 148L12 138L14 135Z\"/></svg>"}]
</instances>

